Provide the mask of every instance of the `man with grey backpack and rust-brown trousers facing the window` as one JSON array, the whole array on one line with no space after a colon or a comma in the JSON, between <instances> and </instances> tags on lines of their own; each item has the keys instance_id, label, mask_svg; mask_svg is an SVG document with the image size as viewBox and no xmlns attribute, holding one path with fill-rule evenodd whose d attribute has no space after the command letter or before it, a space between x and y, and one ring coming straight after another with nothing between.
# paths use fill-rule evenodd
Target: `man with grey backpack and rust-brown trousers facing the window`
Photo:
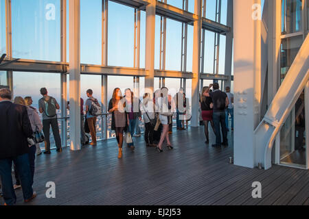
<instances>
[{"instance_id":1,"label":"man with grey backpack and rust-brown trousers facing the window","mask_svg":"<svg viewBox=\"0 0 309 219\"><path fill-rule=\"evenodd\" d=\"M87 123L89 126L90 134L92 142L90 145L96 146L97 145L97 132L95 129L95 123L97 121L97 116L102 114L101 105L98 102L97 99L95 99L93 96L93 91L91 89L87 90L87 96L88 99L86 101L86 118Z\"/></svg>"}]
</instances>

